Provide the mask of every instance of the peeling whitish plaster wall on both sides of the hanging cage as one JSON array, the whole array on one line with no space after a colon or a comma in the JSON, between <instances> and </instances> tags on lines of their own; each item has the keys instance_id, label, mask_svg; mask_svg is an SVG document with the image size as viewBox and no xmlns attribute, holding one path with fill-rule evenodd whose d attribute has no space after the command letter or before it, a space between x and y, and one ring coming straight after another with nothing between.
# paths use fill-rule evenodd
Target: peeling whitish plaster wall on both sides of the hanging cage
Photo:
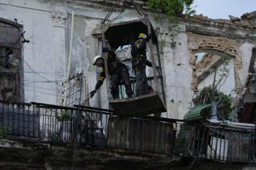
<instances>
[{"instance_id":1,"label":"peeling whitish plaster wall on both sides of the hanging cage","mask_svg":"<svg viewBox=\"0 0 256 170\"><path fill-rule=\"evenodd\" d=\"M36 72L51 72L60 73L56 75L44 75L47 80L57 81L65 80L67 77L67 61L70 41L71 16L67 17L67 12L71 13L74 10L74 34L72 42L72 58L70 64L70 75L74 75L84 71L85 87L82 95L82 100L88 99L88 92L95 87L97 82L96 67L92 66L92 59L99 53L99 41L92 35L93 29L100 27L100 21L106 17L107 11L103 11L92 6L74 3L63 4L56 1L3 1L0 8L1 15L4 18L13 20L18 18L20 24L24 25L26 36L33 36L29 39L31 42L24 48L24 60L28 60ZM16 12L15 12L16 11ZM20 13L22 11L22 13ZM110 17L113 18L118 13L113 13ZM68 22L68 23L67 23ZM159 39L165 39L166 43L162 45L163 52L161 62L164 73L164 85L166 90L166 105L168 112L164 113L164 117L182 118L189 108L191 100L191 90L189 89L191 81L191 69L189 68L189 53L185 27L182 28L179 34L175 36L169 34L168 24L160 24L154 22L156 28L160 29ZM68 29L67 29L68 24ZM158 24L158 25L157 25ZM172 47L173 41L180 42L181 45ZM31 71L29 66L24 64L24 71ZM150 70L149 70L150 71ZM47 81L45 78L37 74L25 74L25 80ZM40 102L61 104L63 99L64 87L61 86L62 81L57 83L29 83L31 91L25 91L26 102ZM28 85L25 84L25 89ZM44 90L41 90L41 88ZM36 92L38 91L38 92ZM56 96L49 96L56 94ZM189 97L188 97L189 95ZM97 97L100 97L100 104L97 103ZM100 88L97 96L89 101L90 106L101 106L108 108L108 95L106 90L106 82Z\"/></svg>"}]
</instances>

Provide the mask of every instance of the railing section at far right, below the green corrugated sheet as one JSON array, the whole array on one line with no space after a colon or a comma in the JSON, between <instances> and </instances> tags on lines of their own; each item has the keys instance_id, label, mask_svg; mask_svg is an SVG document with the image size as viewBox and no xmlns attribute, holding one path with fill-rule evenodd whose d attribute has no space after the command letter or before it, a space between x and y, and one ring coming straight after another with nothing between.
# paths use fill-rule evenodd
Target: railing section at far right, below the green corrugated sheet
<instances>
[{"instance_id":1,"label":"railing section at far right, below the green corrugated sheet","mask_svg":"<svg viewBox=\"0 0 256 170\"><path fill-rule=\"evenodd\" d=\"M184 155L197 159L255 163L255 129L224 125L184 124L180 131Z\"/></svg>"}]
</instances>

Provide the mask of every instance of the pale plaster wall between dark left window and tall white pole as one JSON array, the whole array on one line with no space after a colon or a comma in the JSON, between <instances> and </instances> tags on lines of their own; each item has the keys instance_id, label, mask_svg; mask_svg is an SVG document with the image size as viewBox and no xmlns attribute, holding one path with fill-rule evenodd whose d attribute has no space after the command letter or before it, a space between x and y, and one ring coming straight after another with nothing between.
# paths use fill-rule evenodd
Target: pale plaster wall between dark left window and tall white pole
<instances>
[{"instance_id":1,"label":"pale plaster wall between dark left window and tall white pole","mask_svg":"<svg viewBox=\"0 0 256 170\"><path fill-rule=\"evenodd\" d=\"M23 44L25 102L56 103L58 97L55 94L61 91L60 86L45 81L64 79L64 27L57 24L58 19L52 18L49 4L36 1L1 1L0 6L0 16L12 21L17 18L18 23L24 25L24 36L31 42ZM49 97L49 94L54 95Z\"/></svg>"}]
</instances>

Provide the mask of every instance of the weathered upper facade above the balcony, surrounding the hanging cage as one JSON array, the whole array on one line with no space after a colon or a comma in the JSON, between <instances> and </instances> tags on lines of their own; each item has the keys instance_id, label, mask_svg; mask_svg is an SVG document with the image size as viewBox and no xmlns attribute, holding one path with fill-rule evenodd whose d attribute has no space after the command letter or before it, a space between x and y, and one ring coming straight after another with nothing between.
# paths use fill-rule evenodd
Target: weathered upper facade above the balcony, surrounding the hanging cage
<instances>
[{"instance_id":1,"label":"weathered upper facade above the balcony, surrounding the hanging cage","mask_svg":"<svg viewBox=\"0 0 256 170\"><path fill-rule=\"evenodd\" d=\"M209 85L218 85L232 97L232 114L241 103L255 102L255 12L240 21L196 15L170 23L163 13L147 11L145 1L135 2L147 13L157 36L158 49L149 59L159 54L161 61L157 66L166 105L161 117L182 120L193 106L193 94ZM123 6L112 0L1 0L0 100L109 109L106 81L95 97L89 97L99 73L92 61L102 50L102 21L118 17ZM138 13L131 3L124 8ZM150 67L147 74L152 77ZM243 118L232 115L236 121Z\"/></svg>"}]
</instances>

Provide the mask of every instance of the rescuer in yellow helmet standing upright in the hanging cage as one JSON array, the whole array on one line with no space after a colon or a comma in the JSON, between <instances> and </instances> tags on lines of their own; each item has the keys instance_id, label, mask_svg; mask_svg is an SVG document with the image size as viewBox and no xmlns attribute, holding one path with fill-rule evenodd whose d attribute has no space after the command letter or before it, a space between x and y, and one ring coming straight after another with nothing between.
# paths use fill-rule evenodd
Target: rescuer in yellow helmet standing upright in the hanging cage
<instances>
[{"instance_id":1,"label":"rescuer in yellow helmet standing upright in the hanging cage","mask_svg":"<svg viewBox=\"0 0 256 170\"><path fill-rule=\"evenodd\" d=\"M136 75L136 96L148 94L148 82L146 66L152 67L152 63L147 59L147 41L151 35L140 33L138 39L132 43L132 67Z\"/></svg>"}]
</instances>

